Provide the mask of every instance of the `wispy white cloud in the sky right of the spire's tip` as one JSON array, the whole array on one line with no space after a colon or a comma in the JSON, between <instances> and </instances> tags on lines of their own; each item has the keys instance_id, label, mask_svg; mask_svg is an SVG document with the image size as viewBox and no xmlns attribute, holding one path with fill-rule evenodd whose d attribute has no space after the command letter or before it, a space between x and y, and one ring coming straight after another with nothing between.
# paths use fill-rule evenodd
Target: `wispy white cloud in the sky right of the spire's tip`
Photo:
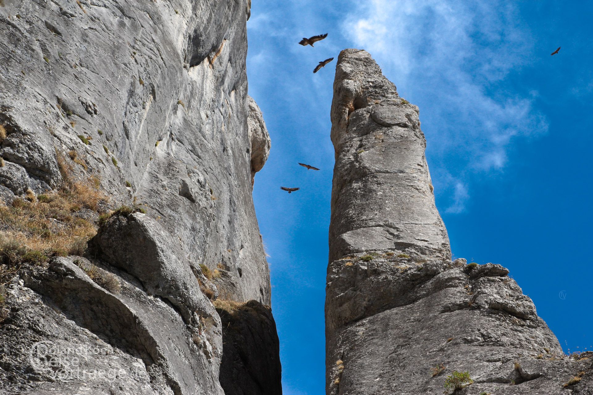
<instances>
[{"instance_id":1,"label":"wispy white cloud in the sky right of the spire's tip","mask_svg":"<svg viewBox=\"0 0 593 395\"><path fill-rule=\"evenodd\" d=\"M369 0L353 4L343 32L420 106L436 170L452 174L448 212L463 211L473 174L505 166L515 137L547 131L537 92L509 93L521 92L507 80L533 52L511 2Z\"/></svg>"}]
</instances>

